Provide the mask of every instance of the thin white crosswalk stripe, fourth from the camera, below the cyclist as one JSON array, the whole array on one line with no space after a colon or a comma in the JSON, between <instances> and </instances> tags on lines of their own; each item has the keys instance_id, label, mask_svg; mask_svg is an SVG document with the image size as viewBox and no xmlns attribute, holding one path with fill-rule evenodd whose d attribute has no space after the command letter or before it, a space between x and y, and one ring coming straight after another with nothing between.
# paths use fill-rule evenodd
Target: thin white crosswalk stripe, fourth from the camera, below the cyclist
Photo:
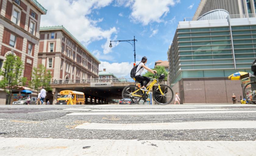
<instances>
[{"instance_id":1,"label":"thin white crosswalk stripe, fourth from the camera, below the cyclist","mask_svg":"<svg viewBox=\"0 0 256 156\"><path fill-rule=\"evenodd\" d=\"M231 109L94 109L92 110L92 112L194 111L194 110L231 110Z\"/></svg>"}]
</instances>

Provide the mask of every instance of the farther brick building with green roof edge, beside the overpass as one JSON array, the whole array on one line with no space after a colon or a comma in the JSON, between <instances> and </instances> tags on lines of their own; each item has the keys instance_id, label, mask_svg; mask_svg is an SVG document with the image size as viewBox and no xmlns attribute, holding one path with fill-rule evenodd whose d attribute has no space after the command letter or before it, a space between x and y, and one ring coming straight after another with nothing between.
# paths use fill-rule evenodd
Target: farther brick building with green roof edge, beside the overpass
<instances>
[{"instance_id":1,"label":"farther brick building with green roof edge, beside the overpass","mask_svg":"<svg viewBox=\"0 0 256 156\"><path fill-rule=\"evenodd\" d=\"M63 26L40 28L38 64L52 73L52 80L69 83L98 78L100 61Z\"/></svg>"}]
</instances>

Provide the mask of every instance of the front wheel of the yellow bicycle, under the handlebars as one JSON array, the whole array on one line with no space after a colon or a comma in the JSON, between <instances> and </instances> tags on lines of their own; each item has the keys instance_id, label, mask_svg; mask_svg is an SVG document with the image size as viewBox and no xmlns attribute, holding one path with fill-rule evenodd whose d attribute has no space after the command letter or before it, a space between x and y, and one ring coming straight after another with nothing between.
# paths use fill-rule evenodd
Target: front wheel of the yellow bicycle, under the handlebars
<instances>
[{"instance_id":1,"label":"front wheel of the yellow bicycle, under the handlebars","mask_svg":"<svg viewBox=\"0 0 256 156\"><path fill-rule=\"evenodd\" d=\"M163 95L160 92L160 89ZM158 87L155 87L153 91L154 101L160 105L166 105L172 102L172 99L173 99L172 88L168 85L160 85L160 89Z\"/></svg>"}]
</instances>

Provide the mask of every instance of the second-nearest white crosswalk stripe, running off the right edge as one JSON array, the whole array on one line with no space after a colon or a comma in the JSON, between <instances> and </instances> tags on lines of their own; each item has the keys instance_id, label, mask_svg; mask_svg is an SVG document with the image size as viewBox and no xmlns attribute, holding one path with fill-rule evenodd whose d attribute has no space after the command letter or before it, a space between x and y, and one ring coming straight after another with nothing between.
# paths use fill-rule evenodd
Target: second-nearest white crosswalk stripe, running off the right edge
<instances>
[{"instance_id":1,"label":"second-nearest white crosswalk stripe, running off the right edge","mask_svg":"<svg viewBox=\"0 0 256 156\"><path fill-rule=\"evenodd\" d=\"M201 130L224 128L256 128L256 121L198 121L181 123L83 123L78 129L95 130Z\"/></svg>"}]
</instances>

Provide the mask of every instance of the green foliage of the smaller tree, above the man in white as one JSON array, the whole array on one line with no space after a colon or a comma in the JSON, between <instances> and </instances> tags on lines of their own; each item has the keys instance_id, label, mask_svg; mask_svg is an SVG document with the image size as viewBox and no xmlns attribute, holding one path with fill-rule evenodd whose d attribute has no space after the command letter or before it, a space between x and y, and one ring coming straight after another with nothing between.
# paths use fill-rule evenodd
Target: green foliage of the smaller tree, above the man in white
<instances>
[{"instance_id":1,"label":"green foliage of the smaller tree, above the man in white","mask_svg":"<svg viewBox=\"0 0 256 156\"><path fill-rule=\"evenodd\" d=\"M30 87L34 88L37 92L40 92L41 87L44 87L46 91L52 91L50 86L51 78L51 72L46 71L44 65L40 64L38 68L33 68Z\"/></svg>"}]
</instances>

